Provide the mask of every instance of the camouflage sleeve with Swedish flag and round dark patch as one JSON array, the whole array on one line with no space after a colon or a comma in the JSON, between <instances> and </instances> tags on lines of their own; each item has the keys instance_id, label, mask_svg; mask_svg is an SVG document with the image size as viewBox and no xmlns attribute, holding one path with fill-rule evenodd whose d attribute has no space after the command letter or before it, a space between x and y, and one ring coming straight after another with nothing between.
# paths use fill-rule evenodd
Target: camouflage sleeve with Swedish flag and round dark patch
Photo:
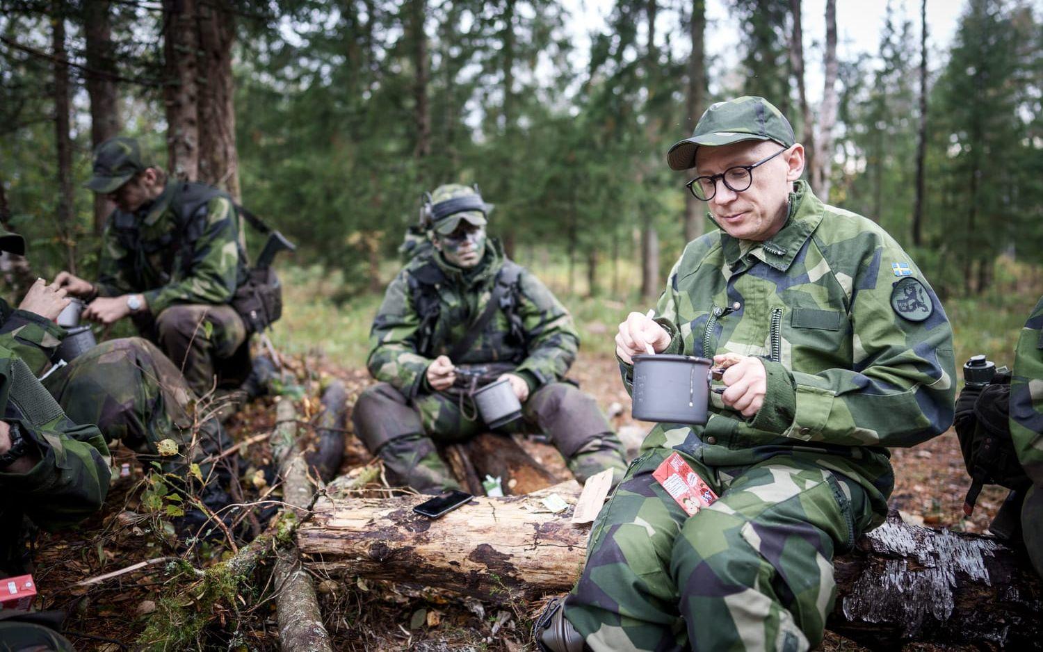
<instances>
[{"instance_id":1,"label":"camouflage sleeve with Swedish flag and round dark patch","mask_svg":"<svg viewBox=\"0 0 1043 652\"><path fill-rule=\"evenodd\" d=\"M809 373L765 360L768 393L753 428L805 441L912 446L952 425L952 329L920 270L907 263L911 273L896 276L893 261L909 257L881 236L848 280L851 367ZM902 288L913 289L922 309L897 301Z\"/></svg>"}]
</instances>

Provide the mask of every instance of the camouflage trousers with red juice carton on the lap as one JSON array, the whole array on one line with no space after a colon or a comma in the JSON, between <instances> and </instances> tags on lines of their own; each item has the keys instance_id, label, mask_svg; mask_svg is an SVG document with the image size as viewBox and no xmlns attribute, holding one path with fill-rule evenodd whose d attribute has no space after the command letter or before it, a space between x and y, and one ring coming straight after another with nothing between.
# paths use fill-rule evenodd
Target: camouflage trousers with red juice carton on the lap
<instances>
[{"instance_id":1,"label":"camouflage trousers with red juice carton on the lap","mask_svg":"<svg viewBox=\"0 0 1043 652\"><path fill-rule=\"evenodd\" d=\"M595 652L819 645L834 551L872 518L866 490L784 454L737 467L682 454L720 497L688 517L652 477L673 452L630 465L595 522L565 618Z\"/></svg>"}]
</instances>

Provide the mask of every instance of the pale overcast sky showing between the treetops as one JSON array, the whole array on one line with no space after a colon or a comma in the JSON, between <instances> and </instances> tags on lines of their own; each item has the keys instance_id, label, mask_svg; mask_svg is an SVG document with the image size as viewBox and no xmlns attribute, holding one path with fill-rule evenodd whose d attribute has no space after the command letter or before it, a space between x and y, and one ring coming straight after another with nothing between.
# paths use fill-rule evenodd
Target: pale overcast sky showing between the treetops
<instances>
[{"instance_id":1,"label":"pale overcast sky showing between the treetops","mask_svg":"<svg viewBox=\"0 0 1043 652\"><path fill-rule=\"evenodd\" d=\"M563 0L572 14L568 26L582 56L589 51L591 31L605 28L613 0ZM742 54L739 26L729 15L728 0L706 1L706 52L721 62L723 69L734 66ZM913 21L914 31L920 33L920 0L892 0L896 19ZM857 52L879 50L880 28L883 25L887 0L838 0L836 35L838 54L841 58L854 58ZM933 52L944 52L955 33L956 22L963 11L964 0L927 0L927 42ZM818 102L822 97L822 45L826 39L826 0L803 0L804 52L808 99ZM659 22L657 21L657 25ZM660 27L666 29L668 26ZM676 47L687 52L688 44L678 40ZM937 69L940 62L929 61ZM710 79L714 74L710 72Z\"/></svg>"}]
</instances>

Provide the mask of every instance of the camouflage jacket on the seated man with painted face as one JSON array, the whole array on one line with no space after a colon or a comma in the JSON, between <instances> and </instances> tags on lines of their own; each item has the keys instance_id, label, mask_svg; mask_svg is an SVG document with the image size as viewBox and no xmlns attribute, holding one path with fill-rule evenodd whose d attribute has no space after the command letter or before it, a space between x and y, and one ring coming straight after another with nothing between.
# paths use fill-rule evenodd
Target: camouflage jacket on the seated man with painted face
<instances>
[{"instance_id":1,"label":"camouflage jacket on the seated man with painted face","mask_svg":"<svg viewBox=\"0 0 1043 652\"><path fill-rule=\"evenodd\" d=\"M489 240L485 258L474 270L450 265L440 253L414 258L395 276L384 295L369 334L369 372L409 397L428 390L425 371L432 360L448 355L488 304L505 257L500 243ZM433 310L421 314L417 289L433 285ZM498 310L485 330L455 364L508 361L535 389L560 380L568 371L579 335L568 311L527 269L522 269L514 292L512 324Z\"/></svg>"}]
</instances>

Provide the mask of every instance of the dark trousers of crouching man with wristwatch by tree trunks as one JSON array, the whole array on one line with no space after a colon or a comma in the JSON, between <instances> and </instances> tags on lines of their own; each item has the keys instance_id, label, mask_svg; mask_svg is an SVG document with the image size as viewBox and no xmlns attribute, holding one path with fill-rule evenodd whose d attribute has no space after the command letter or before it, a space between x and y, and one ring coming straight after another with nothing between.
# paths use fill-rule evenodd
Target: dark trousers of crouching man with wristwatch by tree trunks
<instances>
[{"instance_id":1,"label":"dark trousers of crouching man with wristwatch by tree trunks","mask_svg":"<svg viewBox=\"0 0 1043 652\"><path fill-rule=\"evenodd\" d=\"M246 324L232 306L171 306L154 319L147 313L136 315L134 322L142 337L159 344L180 369L196 395L210 393L215 378L242 382L249 372L249 351L243 346ZM245 369L239 368L244 364Z\"/></svg>"}]
</instances>

